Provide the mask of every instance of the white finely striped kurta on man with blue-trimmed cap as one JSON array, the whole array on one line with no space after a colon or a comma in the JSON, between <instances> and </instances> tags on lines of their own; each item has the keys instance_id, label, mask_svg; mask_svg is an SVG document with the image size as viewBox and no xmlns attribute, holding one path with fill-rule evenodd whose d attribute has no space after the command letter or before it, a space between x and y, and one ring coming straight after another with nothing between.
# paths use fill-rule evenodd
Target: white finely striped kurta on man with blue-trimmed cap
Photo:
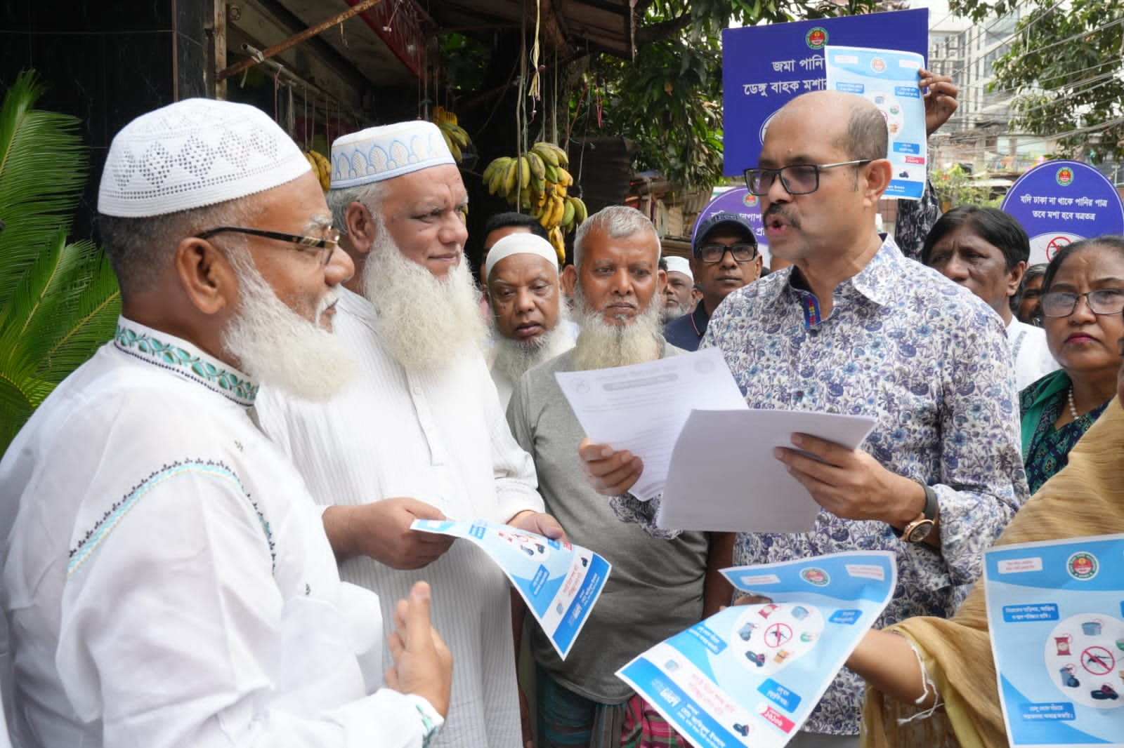
<instances>
[{"instance_id":1,"label":"white finely striped kurta on man with blue-trimmed cap","mask_svg":"<svg viewBox=\"0 0 1124 748\"><path fill-rule=\"evenodd\" d=\"M336 335L360 376L327 404L263 390L259 422L292 457L321 504L410 496L456 519L509 520L543 510L531 457L511 437L483 356L408 373L374 331L371 304L342 291ZM433 586L434 626L453 654L453 693L435 746L522 745L511 642L509 585L488 557L456 542L418 571L372 558L344 562L341 575L379 593L383 615L416 580Z\"/></svg>"}]
</instances>

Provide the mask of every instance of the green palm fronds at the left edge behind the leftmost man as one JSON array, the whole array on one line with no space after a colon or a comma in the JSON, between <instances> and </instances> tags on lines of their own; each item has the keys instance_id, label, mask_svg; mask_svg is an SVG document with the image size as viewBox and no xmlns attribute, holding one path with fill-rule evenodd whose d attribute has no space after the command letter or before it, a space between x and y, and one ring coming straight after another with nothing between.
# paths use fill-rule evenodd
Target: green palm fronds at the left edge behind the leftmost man
<instances>
[{"instance_id":1,"label":"green palm fronds at the left edge behind the leftmost man","mask_svg":"<svg viewBox=\"0 0 1124 748\"><path fill-rule=\"evenodd\" d=\"M112 337L120 298L105 256L69 244L87 174L78 119L35 109L17 79L0 107L0 453L54 386Z\"/></svg>"}]
</instances>

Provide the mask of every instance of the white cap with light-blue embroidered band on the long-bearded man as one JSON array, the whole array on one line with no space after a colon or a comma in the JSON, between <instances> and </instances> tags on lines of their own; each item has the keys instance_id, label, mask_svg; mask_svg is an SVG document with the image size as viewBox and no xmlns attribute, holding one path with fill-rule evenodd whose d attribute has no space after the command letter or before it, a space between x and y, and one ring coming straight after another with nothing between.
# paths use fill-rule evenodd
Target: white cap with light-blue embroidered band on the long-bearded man
<instances>
[{"instance_id":1,"label":"white cap with light-blue embroidered band on the long-bearded man","mask_svg":"<svg viewBox=\"0 0 1124 748\"><path fill-rule=\"evenodd\" d=\"M430 166L455 164L441 129L416 119L342 135L332 144L332 189L381 182Z\"/></svg>"}]
</instances>

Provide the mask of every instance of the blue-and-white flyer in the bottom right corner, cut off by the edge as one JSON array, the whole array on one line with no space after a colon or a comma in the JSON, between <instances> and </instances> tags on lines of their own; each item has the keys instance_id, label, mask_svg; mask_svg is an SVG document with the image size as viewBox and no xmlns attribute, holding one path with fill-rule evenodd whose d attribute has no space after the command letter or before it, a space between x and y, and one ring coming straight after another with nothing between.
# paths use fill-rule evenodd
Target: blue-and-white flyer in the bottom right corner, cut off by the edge
<instances>
[{"instance_id":1,"label":"blue-and-white flyer in the bottom right corner, cut off by the edge","mask_svg":"<svg viewBox=\"0 0 1124 748\"><path fill-rule=\"evenodd\" d=\"M987 551L1012 746L1124 746L1124 535Z\"/></svg>"}]
</instances>

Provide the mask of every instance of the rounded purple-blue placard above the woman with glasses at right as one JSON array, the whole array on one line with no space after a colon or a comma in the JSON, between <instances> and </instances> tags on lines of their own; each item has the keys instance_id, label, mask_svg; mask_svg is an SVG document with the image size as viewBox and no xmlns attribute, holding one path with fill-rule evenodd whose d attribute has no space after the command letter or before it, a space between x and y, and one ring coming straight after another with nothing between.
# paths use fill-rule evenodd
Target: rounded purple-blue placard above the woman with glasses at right
<instances>
[{"instance_id":1,"label":"rounded purple-blue placard above the woman with glasses at right","mask_svg":"<svg viewBox=\"0 0 1124 748\"><path fill-rule=\"evenodd\" d=\"M1003 210L1031 237L1031 264L1048 263L1067 244L1124 234L1124 201L1108 179L1079 161L1048 161L1018 177Z\"/></svg>"}]
</instances>

